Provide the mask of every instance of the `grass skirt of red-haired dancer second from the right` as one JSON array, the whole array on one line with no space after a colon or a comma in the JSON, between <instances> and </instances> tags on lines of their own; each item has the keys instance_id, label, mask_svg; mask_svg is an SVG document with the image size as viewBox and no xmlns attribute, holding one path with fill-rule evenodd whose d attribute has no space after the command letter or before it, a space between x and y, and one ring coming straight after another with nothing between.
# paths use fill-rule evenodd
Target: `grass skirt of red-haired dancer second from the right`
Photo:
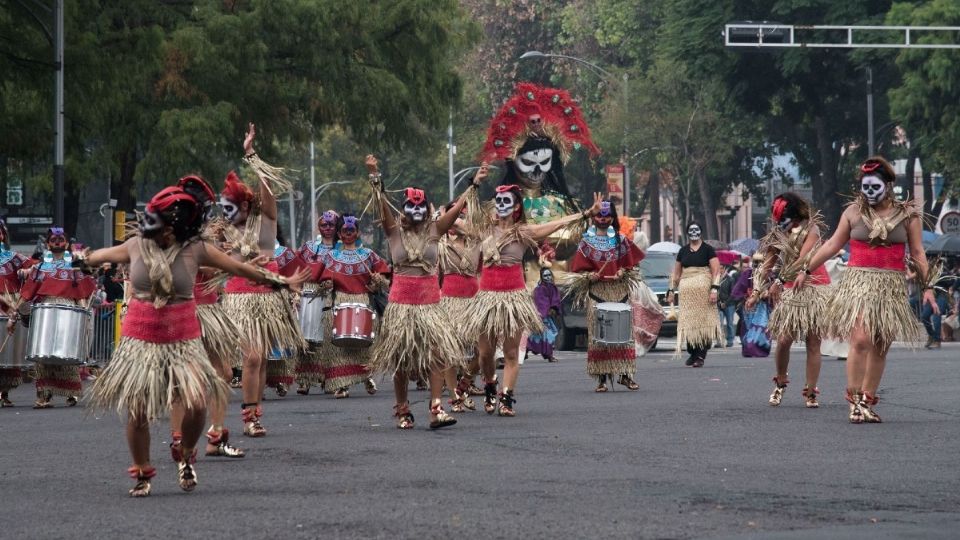
<instances>
[{"instance_id":1,"label":"grass skirt of red-haired dancer second from the right","mask_svg":"<svg viewBox=\"0 0 960 540\"><path fill-rule=\"evenodd\" d=\"M780 302L770 315L770 335L792 341L807 336L822 336L827 331L827 306L830 305L830 285L809 285L790 288L780 295Z\"/></svg>"}]
</instances>

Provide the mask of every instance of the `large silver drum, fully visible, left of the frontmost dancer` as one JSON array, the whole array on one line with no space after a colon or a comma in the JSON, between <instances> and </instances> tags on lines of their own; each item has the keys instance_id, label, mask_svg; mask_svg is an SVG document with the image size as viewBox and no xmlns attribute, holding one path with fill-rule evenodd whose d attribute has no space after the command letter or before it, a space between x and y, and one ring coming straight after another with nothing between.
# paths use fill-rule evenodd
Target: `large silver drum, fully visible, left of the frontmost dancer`
<instances>
[{"instance_id":1,"label":"large silver drum, fully visible, left of the frontmost dancer","mask_svg":"<svg viewBox=\"0 0 960 540\"><path fill-rule=\"evenodd\" d=\"M91 321L90 310L78 306L34 305L26 359L64 366L83 364L90 353Z\"/></svg>"}]
</instances>

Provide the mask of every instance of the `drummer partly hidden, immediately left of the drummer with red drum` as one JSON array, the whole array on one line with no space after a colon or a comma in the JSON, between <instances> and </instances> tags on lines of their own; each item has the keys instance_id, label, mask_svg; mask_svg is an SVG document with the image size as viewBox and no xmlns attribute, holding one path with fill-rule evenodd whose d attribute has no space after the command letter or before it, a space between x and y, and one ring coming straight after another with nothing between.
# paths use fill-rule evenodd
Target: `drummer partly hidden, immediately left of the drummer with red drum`
<instances>
[{"instance_id":1,"label":"drummer partly hidden, immediately left of the drummer with red drum","mask_svg":"<svg viewBox=\"0 0 960 540\"><path fill-rule=\"evenodd\" d=\"M320 232L320 236L316 240L306 242L300 247L300 251L297 253L299 263L309 268L315 268L320 264L323 256L336 245L338 240L337 229L339 227L340 214L333 210L324 212L323 215L320 216L320 219L317 220L317 230ZM281 274L284 274L285 271L286 267L280 269ZM319 275L319 273L316 275ZM300 300L301 309L303 307L302 303L308 301L307 298L311 295L319 295L313 296L313 298L315 298L313 301L318 302L319 307L323 309L327 308L326 304L330 298L329 287L321 288L319 283L307 283L304 285L303 290L304 298ZM323 387L322 358L328 357L333 353L329 339L325 339L322 342L311 342L308 336L307 344L309 348L297 357L296 367L297 393L303 396L310 393L310 387L313 385Z\"/></svg>"}]
</instances>

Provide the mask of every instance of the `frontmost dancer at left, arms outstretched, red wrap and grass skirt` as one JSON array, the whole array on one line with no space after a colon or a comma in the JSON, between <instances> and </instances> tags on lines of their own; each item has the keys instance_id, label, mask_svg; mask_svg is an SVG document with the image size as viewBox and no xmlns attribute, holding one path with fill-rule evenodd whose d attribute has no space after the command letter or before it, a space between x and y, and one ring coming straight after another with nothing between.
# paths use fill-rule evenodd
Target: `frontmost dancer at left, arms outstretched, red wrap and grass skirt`
<instances>
[{"instance_id":1,"label":"frontmost dancer at left, arms outstretched, red wrap and grass skirt","mask_svg":"<svg viewBox=\"0 0 960 540\"><path fill-rule=\"evenodd\" d=\"M110 364L93 387L96 409L127 415L128 470L136 480L132 497L150 494L156 470L150 461L150 423L171 409L183 418L177 482L184 491L197 485L194 454L203 434L208 400L223 403L227 383L210 364L193 298L201 266L283 286L288 280L237 262L199 239L198 202L179 187L157 193L147 204L140 234L123 244L94 251L82 263L127 264L133 296ZM289 280L298 284L306 274Z\"/></svg>"}]
</instances>

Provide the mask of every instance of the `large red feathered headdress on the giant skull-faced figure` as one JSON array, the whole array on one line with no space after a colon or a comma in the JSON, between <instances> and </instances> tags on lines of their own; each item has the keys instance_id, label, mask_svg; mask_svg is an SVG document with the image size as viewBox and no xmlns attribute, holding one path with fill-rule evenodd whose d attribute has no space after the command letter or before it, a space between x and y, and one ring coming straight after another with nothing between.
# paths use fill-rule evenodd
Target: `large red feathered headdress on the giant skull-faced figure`
<instances>
[{"instance_id":1,"label":"large red feathered headdress on the giant skull-faced figure","mask_svg":"<svg viewBox=\"0 0 960 540\"><path fill-rule=\"evenodd\" d=\"M590 138L590 128L580 106L566 90L519 83L513 96L490 121L480 158L485 161L515 159L530 137L550 139L560 150L563 162L580 148L586 148L591 156L600 153Z\"/></svg>"}]
</instances>

